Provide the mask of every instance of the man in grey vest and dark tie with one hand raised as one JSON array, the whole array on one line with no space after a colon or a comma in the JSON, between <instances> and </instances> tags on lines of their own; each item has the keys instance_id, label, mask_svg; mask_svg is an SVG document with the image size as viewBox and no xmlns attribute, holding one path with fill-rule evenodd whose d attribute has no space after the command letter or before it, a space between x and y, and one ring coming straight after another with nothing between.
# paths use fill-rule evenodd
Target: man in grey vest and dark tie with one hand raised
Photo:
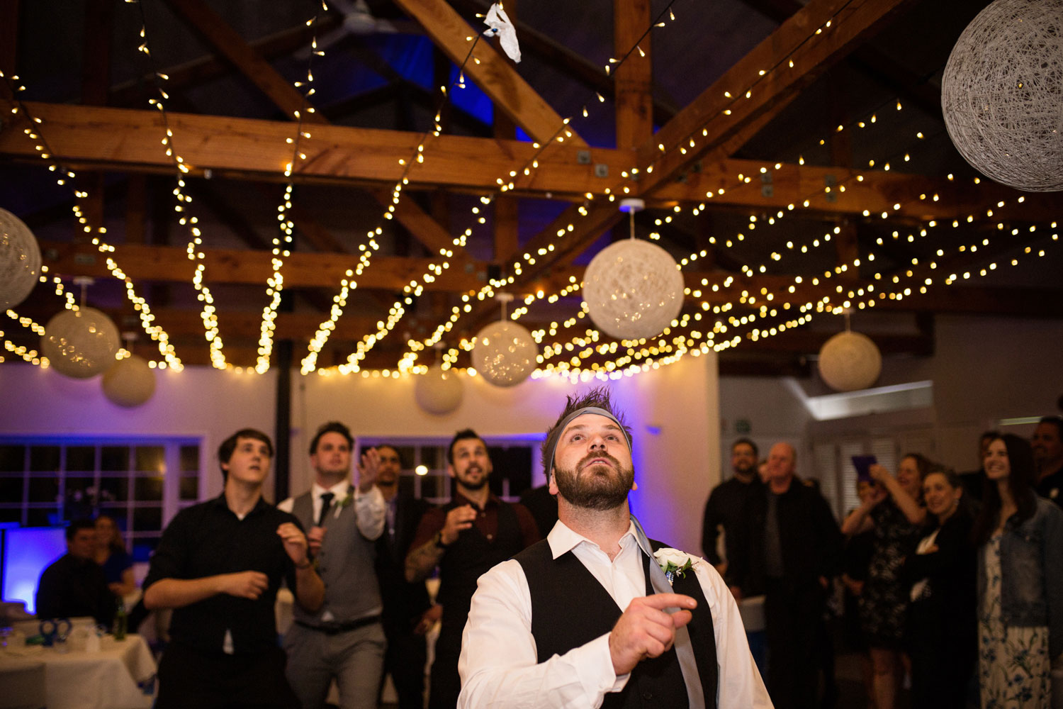
<instances>
[{"instance_id":1,"label":"man in grey vest and dark tie with one hand raised","mask_svg":"<svg viewBox=\"0 0 1063 709\"><path fill-rule=\"evenodd\" d=\"M361 456L357 486L350 479L353 443L342 423L318 428L310 441L313 487L277 505L309 530L314 563L325 584L321 608L309 613L297 606L284 638L286 674L303 709L323 708L333 679L344 709L376 707L385 640L374 541L384 530L386 505L373 485L375 449Z\"/></svg>"}]
</instances>

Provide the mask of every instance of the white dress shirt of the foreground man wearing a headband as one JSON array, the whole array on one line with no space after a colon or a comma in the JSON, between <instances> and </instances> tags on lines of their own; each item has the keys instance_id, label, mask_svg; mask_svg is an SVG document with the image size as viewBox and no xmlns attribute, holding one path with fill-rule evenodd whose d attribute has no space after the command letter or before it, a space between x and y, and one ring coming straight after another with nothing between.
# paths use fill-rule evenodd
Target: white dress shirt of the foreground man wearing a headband
<instances>
[{"instance_id":1,"label":"white dress shirt of the foreground man wearing a headband","mask_svg":"<svg viewBox=\"0 0 1063 709\"><path fill-rule=\"evenodd\" d=\"M621 608L646 589L635 525L610 560L602 548L563 522L546 537L553 558L571 551ZM770 709L772 702L749 654L738 606L708 562L694 564L709 603L720 666L719 709ZM618 677L609 655L609 634L539 662L532 636L532 595L524 568L510 559L479 577L461 638L459 709L600 707L630 675Z\"/></svg>"}]
</instances>

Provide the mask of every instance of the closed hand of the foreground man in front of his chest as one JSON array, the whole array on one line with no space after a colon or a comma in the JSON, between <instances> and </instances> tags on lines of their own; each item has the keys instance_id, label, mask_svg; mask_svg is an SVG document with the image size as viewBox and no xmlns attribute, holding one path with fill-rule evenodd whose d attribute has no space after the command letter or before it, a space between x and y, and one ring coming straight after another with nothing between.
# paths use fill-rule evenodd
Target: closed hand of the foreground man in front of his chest
<instances>
[{"instance_id":1,"label":"closed hand of the foreground man in front of his chest","mask_svg":"<svg viewBox=\"0 0 1063 709\"><path fill-rule=\"evenodd\" d=\"M697 602L679 593L634 598L609 634L609 655L617 676L626 675L648 657L663 655L675 642L675 630L690 622ZM680 608L669 613L665 608Z\"/></svg>"}]
</instances>

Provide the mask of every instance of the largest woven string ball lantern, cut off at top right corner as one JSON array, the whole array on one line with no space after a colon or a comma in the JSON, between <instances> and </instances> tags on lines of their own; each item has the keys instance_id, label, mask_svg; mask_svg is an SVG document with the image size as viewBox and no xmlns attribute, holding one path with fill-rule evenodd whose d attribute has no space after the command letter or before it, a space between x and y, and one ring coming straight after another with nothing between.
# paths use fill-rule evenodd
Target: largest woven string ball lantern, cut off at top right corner
<instances>
[{"instance_id":1,"label":"largest woven string ball lantern, cut off at top right corner","mask_svg":"<svg viewBox=\"0 0 1063 709\"><path fill-rule=\"evenodd\" d=\"M941 107L972 166L1018 189L1063 189L1063 0L980 12L945 65Z\"/></svg>"}]
</instances>

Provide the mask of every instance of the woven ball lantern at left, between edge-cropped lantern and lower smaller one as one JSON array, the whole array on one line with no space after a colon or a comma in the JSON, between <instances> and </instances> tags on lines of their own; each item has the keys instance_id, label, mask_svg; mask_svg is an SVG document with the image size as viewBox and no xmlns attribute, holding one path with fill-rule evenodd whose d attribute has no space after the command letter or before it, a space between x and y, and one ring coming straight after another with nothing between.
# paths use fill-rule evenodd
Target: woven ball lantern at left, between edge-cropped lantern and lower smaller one
<instances>
[{"instance_id":1,"label":"woven ball lantern at left, between edge-cropped lantern and lower smaller one","mask_svg":"<svg viewBox=\"0 0 1063 709\"><path fill-rule=\"evenodd\" d=\"M102 374L115 364L118 328L96 308L63 310L45 325L40 352L61 374L84 379Z\"/></svg>"}]
</instances>

